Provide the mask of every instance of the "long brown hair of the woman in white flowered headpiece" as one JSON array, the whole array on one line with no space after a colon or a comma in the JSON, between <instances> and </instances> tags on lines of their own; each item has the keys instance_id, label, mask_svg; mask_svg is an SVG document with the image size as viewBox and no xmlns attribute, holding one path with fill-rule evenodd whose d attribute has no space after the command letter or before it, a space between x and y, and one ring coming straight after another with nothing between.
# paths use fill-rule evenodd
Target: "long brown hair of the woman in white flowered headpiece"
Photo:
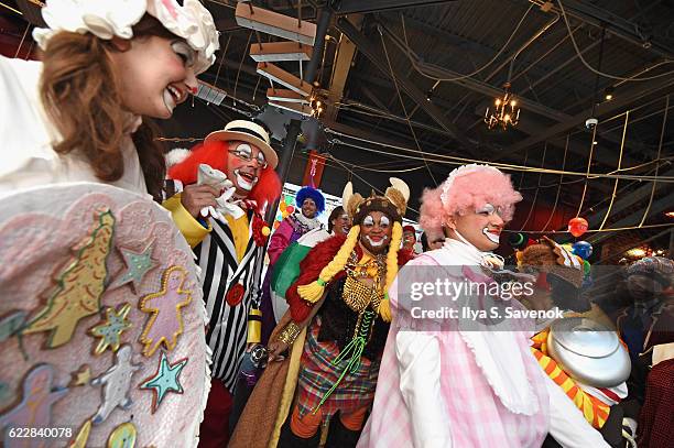
<instances>
[{"instance_id":1,"label":"long brown hair of the woman in white flowered headpiece","mask_svg":"<svg viewBox=\"0 0 674 448\"><path fill-rule=\"evenodd\" d=\"M148 14L133 26L133 35L176 39ZM59 32L42 57L42 103L63 139L54 144L54 151L78 151L104 182L118 181L124 172L121 149L129 112L122 108L119 79L109 56L117 51L110 41L90 33ZM132 139L148 192L161 200L166 165L164 149L155 136L156 127L143 117Z\"/></svg>"}]
</instances>

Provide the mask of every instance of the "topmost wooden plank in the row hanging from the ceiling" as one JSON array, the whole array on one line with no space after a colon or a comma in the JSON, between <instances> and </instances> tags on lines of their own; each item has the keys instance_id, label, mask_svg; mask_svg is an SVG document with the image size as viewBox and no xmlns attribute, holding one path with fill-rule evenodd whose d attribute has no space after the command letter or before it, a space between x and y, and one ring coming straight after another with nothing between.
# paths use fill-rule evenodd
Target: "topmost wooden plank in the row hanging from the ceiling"
<instances>
[{"instance_id":1,"label":"topmost wooden plank in the row hanging from the ceiling","mask_svg":"<svg viewBox=\"0 0 674 448\"><path fill-rule=\"evenodd\" d=\"M309 46L316 39L316 24L290 15L279 14L264 8L253 7L249 2L239 2L235 12L237 23L251 30L300 42Z\"/></svg>"}]
</instances>

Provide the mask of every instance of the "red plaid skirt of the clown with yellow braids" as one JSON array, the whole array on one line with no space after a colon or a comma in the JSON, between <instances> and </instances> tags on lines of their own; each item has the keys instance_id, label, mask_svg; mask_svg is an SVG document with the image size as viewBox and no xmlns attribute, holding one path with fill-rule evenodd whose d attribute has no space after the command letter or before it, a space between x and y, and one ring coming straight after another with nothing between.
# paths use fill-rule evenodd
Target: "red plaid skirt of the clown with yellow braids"
<instances>
[{"instance_id":1,"label":"red plaid skirt of the clown with yellow braids","mask_svg":"<svg viewBox=\"0 0 674 448\"><path fill-rule=\"evenodd\" d=\"M300 418L318 407L320 400L339 380L349 363L350 357L347 357L338 364L333 364L333 361L339 356L339 348L331 341L319 342L319 330L320 317L317 316L306 334L297 379L296 404ZM360 358L359 368L352 373L347 373L337 389L320 405L324 420L337 411L346 415L372 404L380 361L381 358L373 362Z\"/></svg>"}]
</instances>

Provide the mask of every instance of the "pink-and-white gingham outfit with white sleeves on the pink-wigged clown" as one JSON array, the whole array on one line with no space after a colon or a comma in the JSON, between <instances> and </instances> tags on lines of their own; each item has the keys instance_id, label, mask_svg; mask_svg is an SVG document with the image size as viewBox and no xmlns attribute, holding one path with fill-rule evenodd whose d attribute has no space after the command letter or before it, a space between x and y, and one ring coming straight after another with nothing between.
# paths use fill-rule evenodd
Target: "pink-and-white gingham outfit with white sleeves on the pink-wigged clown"
<instances>
[{"instance_id":1,"label":"pink-and-white gingham outfit with white sleeves on the pink-wigged clown","mask_svg":"<svg viewBox=\"0 0 674 448\"><path fill-rule=\"evenodd\" d=\"M477 249L447 240L444 248L407 266L475 266L480 259ZM531 335L472 331L467 336L448 327L456 321L410 330L407 324L401 325L410 317L405 305L399 304L396 286L389 291L394 321L359 448L533 448L548 431L565 447L608 447L543 374L529 348ZM498 341L490 339L493 335ZM488 343L478 353L490 347L507 353L476 356L480 338ZM499 368L488 371L487 365Z\"/></svg>"}]
</instances>

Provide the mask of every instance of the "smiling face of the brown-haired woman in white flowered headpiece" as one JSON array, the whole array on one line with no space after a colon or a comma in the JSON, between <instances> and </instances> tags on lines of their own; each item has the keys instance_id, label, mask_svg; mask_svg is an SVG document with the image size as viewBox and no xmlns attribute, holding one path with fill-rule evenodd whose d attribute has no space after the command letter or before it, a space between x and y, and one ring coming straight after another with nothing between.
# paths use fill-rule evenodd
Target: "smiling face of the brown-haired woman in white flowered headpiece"
<instances>
[{"instance_id":1,"label":"smiling face of the brown-haired woman in white flowered headpiece","mask_svg":"<svg viewBox=\"0 0 674 448\"><path fill-rule=\"evenodd\" d=\"M128 48L109 53L124 108L138 116L171 118L197 89L196 53L180 39L152 35L124 42Z\"/></svg>"}]
</instances>

